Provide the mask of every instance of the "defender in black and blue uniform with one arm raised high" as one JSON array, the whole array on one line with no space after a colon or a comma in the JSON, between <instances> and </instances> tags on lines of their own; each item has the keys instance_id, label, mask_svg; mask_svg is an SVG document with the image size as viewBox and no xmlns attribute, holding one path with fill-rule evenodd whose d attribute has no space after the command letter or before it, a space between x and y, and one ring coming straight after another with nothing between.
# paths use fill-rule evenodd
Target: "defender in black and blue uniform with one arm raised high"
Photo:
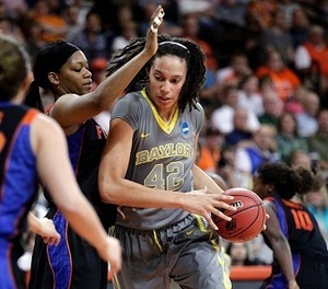
<instances>
[{"instance_id":1,"label":"defender in black and blue uniform with one arm raised high","mask_svg":"<svg viewBox=\"0 0 328 289\"><path fill-rule=\"evenodd\" d=\"M97 189L98 164L106 141L106 132L93 117L108 109L120 96L145 62L157 49L157 28L164 16L157 7L151 20L147 42L140 53L125 62L95 91L91 92L92 76L84 54L74 45L59 41L44 47L36 56L35 81L31 91L38 86L49 90L55 104L49 115L63 129L70 159L83 194L97 211L106 231L115 223L115 205L102 203ZM38 236L33 252L30 288L106 288L107 263L84 240L71 231L61 211L50 201L47 213L61 235L58 246L48 246Z\"/></svg>"}]
</instances>

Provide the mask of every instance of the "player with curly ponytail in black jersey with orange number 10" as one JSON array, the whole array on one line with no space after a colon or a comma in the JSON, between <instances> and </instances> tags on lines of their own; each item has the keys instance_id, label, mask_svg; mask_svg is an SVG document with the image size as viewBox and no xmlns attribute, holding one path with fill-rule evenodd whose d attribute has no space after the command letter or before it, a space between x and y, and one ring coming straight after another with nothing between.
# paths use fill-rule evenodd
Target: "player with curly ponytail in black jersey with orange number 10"
<instances>
[{"instance_id":1,"label":"player with curly ponytail in black jersey with orange number 10","mask_svg":"<svg viewBox=\"0 0 328 289\"><path fill-rule=\"evenodd\" d=\"M263 200L267 230L273 251L271 276L260 288L328 288L328 251L318 224L298 196L317 190L317 176L303 166L262 165L254 177L254 192Z\"/></svg>"}]
</instances>

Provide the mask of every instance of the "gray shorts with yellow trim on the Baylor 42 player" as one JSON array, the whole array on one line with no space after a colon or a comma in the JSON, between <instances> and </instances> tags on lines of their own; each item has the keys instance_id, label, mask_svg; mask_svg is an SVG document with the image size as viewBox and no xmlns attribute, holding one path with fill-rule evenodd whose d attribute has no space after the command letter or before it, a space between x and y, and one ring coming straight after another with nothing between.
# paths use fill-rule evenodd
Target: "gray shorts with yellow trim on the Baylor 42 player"
<instances>
[{"instance_id":1,"label":"gray shorts with yellow trim on the Baylor 42 player","mask_svg":"<svg viewBox=\"0 0 328 289\"><path fill-rule=\"evenodd\" d=\"M232 288L225 253L218 234L204 220L189 215L159 230L116 226L113 234L122 246L122 268L115 277L119 289Z\"/></svg>"}]
</instances>

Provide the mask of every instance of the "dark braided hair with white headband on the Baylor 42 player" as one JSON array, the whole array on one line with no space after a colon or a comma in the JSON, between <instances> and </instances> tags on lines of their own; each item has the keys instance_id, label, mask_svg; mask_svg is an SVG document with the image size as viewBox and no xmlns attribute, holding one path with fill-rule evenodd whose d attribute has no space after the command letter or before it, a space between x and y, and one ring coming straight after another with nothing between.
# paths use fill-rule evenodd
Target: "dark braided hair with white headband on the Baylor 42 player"
<instances>
[{"instance_id":1,"label":"dark braided hair with white headband on the Baylor 42 player","mask_svg":"<svg viewBox=\"0 0 328 289\"><path fill-rule=\"evenodd\" d=\"M156 54L139 71L126 89L126 92L132 92L147 88L149 84L149 70L155 58L173 55L184 59L187 63L186 82L181 89L178 107L183 112L188 106L189 109L196 107L199 100L201 88L206 80L206 56L198 44L186 38L172 37L168 34L162 34L157 37L159 48ZM113 74L122 65L138 55L145 45L145 37L134 38L128 46L114 53L107 77Z\"/></svg>"}]
</instances>

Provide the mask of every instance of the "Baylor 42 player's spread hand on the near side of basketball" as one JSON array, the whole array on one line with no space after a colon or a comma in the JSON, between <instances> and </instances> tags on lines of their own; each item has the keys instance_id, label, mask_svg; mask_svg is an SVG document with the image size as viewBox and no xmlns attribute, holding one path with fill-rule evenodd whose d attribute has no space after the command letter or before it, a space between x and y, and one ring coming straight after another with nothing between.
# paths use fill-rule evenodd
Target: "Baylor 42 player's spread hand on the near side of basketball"
<instances>
[{"instance_id":1,"label":"Baylor 42 player's spread hand on the near side of basketball","mask_svg":"<svg viewBox=\"0 0 328 289\"><path fill-rule=\"evenodd\" d=\"M230 206L226 201L233 200L233 196L223 194L209 194L207 188L189 192L186 195L184 209L196 215L204 217L208 223L218 230L216 224L212 220L212 215L218 216L226 221L231 221L231 217L224 215L224 210L235 211L236 208ZM222 209L219 210L218 208Z\"/></svg>"}]
</instances>

